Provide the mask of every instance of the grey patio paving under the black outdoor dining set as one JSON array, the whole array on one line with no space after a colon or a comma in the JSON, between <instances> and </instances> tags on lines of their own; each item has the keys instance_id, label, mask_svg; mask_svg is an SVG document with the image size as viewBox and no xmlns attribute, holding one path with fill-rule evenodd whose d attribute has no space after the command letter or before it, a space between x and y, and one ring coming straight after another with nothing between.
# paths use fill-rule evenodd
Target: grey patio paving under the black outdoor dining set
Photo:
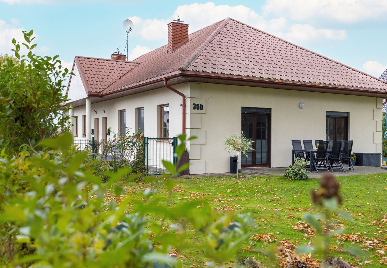
<instances>
[{"instance_id":1,"label":"grey patio paving under the black outdoor dining set","mask_svg":"<svg viewBox=\"0 0 387 268\"><path fill-rule=\"evenodd\" d=\"M283 168L270 168L270 167L247 167L242 168L240 170L240 173L244 174L257 174L257 175L284 175L286 170L286 167ZM319 173L312 172L308 174L309 178L320 178L322 175L328 173L325 170L320 170ZM332 172L329 171L330 174ZM335 176L346 176L346 175L364 175L364 174L376 174L376 173L387 173L387 169L383 169L380 167L363 167L363 166L355 166L355 171L348 171L346 169L346 172L342 172L340 170L335 170L334 175Z\"/></svg>"}]
</instances>

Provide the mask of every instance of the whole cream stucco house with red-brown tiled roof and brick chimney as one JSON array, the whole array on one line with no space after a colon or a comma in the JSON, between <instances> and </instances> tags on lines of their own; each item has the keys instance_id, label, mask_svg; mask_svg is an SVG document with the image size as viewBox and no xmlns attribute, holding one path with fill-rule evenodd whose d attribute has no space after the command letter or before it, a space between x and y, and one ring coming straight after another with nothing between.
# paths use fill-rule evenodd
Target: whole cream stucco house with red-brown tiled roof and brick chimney
<instances>
[{"instance_id":1,"label":"whole cream stucco house with red-brown tiled roof and brick chimney","mask_svg":"<svg viewBox=\"0 0 387 268\"><path fill-rule=\"evenodd\" d=\"M242 166L286 167L292 139L327 134L382 153L385 81L231 18L189 35L171 22L167 45L132 62L77 56L72 72L77 139L108 139L107 127L186 132L198 137L187 146L191 174L228 172L224 137L241 131L256 149Z\"/></svg>"}]
</instances>

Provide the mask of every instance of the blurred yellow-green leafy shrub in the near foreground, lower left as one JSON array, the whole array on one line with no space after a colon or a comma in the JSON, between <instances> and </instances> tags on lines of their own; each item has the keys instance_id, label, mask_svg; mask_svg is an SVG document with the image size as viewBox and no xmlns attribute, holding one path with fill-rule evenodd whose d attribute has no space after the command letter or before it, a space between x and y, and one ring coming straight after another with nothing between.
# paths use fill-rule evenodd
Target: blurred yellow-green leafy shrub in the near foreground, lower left
<instances>
[{"instance_id":1,"label":"blurred yellow-green leafy shrub in the near foreground, lower left","mask_svg":"<svg viewBox=\"0 0 387 268\"><path fill-rule=\"evenodd\" d=\"M179 137L182 143L176 154L180 157L185 136ZM129 168L103 172L109 178L103 183L92 174L97 160L84 164L87 152L76 152L71 144L71 134L64 133L43 140L39 144L47 147L43 151L9 156L2 150L0 243L6 246L1 266L180 266L179 260L167 253L171 248L182 254L190 250L188 226L202 233L202 250L216 264L235 257L247 241L252 222L249 213L219 214L203 200L164 205L157 190L148 188L142 201L127 196L119 204L114 200L106 203L106 192L123 193L124 187L114 183ZM161 191L169 192L171 198L176 175L186 167L175 170L165 161L164 165L174 178L166 179ZM149 182L155 179L147 177ZM149 222L149 214L163 220ZM165 220L176 224L166 228Z\"/></svg>"}]
</instances>

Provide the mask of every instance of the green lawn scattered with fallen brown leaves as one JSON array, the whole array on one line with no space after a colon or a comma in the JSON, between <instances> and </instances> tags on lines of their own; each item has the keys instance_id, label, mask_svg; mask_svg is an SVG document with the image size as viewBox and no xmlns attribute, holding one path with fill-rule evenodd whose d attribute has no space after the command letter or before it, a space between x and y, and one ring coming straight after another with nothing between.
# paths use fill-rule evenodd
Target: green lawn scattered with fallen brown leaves
<instances>
[{"instance_id":1,"label":"green lawn scattered with fallen brown leaves","mask_svg":"<svg viewBox=\"0 0 387 268\"><path fill-rule=\"evenodd\" d=\"M357 234L363 241L354 242L354 244L369 251L368 256L363 259L354 258L348 253L337 250L332 250L332 256L342 257L356 266L381 266L379 260L387 256L387 251L386 255L382 254L382 251L387 250L387 241L385 241L387 222L382 221L387 217L387 174L340 176L336 179L340 183L343 198L340 210L348 211L353 215L352 221L341 221L346 227L344 234ZM296 246L312 241L310 234L307 235L308 230L294 228L295 225L302 224L302 215L305 211L319 212L319 208L310 198L310 191L319 188L319 180L294 181L281 176L245 176L239 179L235 176L185 177L173 191L171 202L179 203L202 198L210 202L214 210L252 211L256 225L252 227L251 234L271 234L269 237L274 241L263 242L250 239L246 247L241 249L238 258L255 256L265 264L265 256L249 251L249 247L257 246L260 251L265 251L275 245L275 240L287 239ZM125 194L139 199L142 198L143 191L150 186L145 182L120 182L120 184L127 187ZM162 180L160 179L154 186L161 190ZM160 195L166 200L167 194L164 192L164 189L160 191ZM194 237L193 232L190 235ZM259 237L265 240L265 236ZM194 244L200 244L200 239L202 238L196 237ZM339 248L353 246L351 242L344 240L332 239L331 246ZM367 244L364 240L374 242ZM251 242L256 243L255 246L250 244ZM343 242L344 244L339 246ZM204 266L208 261L199 247L187 252L178 252L178 254L183 255L181 260L184 267ZM386 262L384 265L387 265L387 258L384 258L384 261Z\"/></svg>"}]
</instances>

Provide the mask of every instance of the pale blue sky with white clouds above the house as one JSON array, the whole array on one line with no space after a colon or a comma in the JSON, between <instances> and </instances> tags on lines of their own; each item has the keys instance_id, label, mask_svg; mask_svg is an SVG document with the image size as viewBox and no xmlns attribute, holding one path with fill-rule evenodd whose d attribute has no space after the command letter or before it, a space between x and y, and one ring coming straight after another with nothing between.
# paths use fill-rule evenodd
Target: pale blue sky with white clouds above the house
<instances>
[{"instance_id":1,"label":"pale blue sky with white clouds above the house","mask_svg":"<svg viewBox=\"0 0 387 268\"><path fill-rule=\"evenodd\" d=\"M0 53L12 37L34 29L38 52L110 58L122 45L124 19L135 23L129 58L164 45L177 15L190 32L232 17L356 69L379 76L387 68L387 0L260 1L0 0ZM122 51L122 50L121 50Z\"/></svg>"}]
</instances>

